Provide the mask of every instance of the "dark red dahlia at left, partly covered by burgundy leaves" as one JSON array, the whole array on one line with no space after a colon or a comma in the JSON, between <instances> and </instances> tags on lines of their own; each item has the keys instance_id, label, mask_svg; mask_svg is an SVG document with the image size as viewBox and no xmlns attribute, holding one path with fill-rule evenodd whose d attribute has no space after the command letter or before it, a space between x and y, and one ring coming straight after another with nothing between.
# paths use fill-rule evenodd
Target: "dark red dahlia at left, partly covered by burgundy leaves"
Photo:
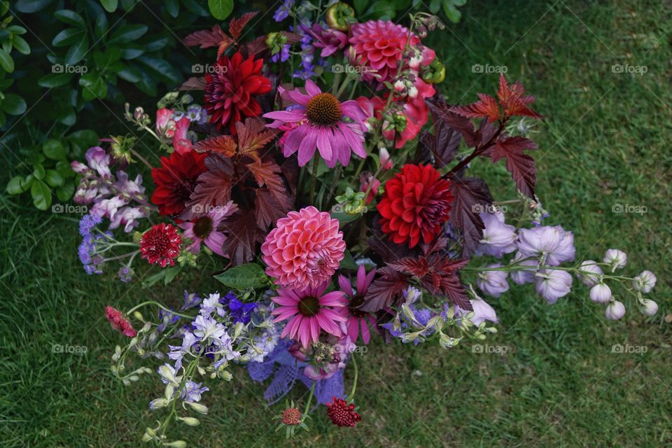
<instances>
[{"instance_id":1,"label":"dark red dahlia at left, partly covered by burgundy leaves","mask_svg":"<svg viewBox=\"0 0 672 448\"><path fill-rule=\"evenodd\" d=\"M195 151L161 158L161 167L152 169L156 189L152 202L162 215L176 215L184 210L184 204L196 186L196 179L205 171L205 154Z\"/></svg>"}]
</instances>

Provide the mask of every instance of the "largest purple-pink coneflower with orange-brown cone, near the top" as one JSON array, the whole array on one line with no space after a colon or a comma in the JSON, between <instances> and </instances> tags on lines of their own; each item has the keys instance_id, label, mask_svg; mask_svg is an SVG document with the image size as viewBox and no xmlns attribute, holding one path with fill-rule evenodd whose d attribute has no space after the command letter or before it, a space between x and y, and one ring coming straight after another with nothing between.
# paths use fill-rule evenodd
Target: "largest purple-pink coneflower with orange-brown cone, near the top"
<instances>
[{"instance_id":1,"label":"largest purple-pink coneflower with orange-brown cone, near the top","mask_svg":"<svg viewBox=\"0 0 672 448\"><path fill-rule=\"evenodd\" d=\"M287 132L283 145L285 157L298 151L301 167L313 158L315 148L329 167L334 167L336 162L348 165L350 151L366 157L366 114L356 101L339 102L334 95L322 92L311 80L306 81L307 94L282 87L278 87L278 92L286 102L300 107L265 113L265 118L275 120L267 126L277 128L287 123L302 123Z\"/></svg>"}]
</instances>

